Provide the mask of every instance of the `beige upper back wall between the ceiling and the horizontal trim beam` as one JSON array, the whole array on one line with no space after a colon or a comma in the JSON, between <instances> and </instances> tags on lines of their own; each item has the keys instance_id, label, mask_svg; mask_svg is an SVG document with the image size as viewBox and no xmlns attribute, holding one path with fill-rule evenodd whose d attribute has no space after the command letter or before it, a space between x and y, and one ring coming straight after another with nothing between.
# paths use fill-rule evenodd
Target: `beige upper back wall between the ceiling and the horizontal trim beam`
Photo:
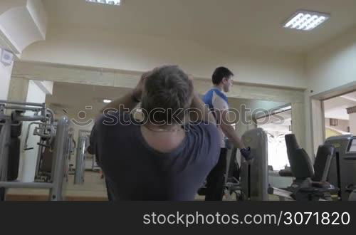
<instances>
[{"instance_id":1,"label":"beige upper back wall between the ceiling and the horizontal trim beam","mask_svg":"<svg viewBox=\"0 0 356 235\"><path fill-rule=\"evenodd\" d=\"M303 56L255 47L233 53L216 46L91 28L49 28L46 41L28 46L22 59L137 72L178 64L187 73L207 79L217 66L227 66L240 82L306 87Z\"/></svg>"}]
</instances>

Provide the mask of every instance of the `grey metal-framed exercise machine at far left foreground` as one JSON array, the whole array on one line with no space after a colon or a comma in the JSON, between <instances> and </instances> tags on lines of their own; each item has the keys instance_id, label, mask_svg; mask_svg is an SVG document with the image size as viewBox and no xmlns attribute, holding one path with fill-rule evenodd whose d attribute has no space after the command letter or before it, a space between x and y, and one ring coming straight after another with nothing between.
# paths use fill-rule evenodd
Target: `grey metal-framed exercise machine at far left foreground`
<instances>
[{"instance_id":1,"label":"grey metal-framed exercise machine at far left foreground","mask_svg":"<svg viewBox=\"0 0 356 235\"><path fill-rule=\"evenodd\" d=\"M26 111L31 111L34 115L26 115ZM12 112L11 115L8 115L7 113L10 112ZM51 173L46 182L17 180L22 122L37 122L38 128L35 128L34 135L41 137L38 146L52 151ZM63 189L68 180L68 160L72 151L68 117L61 117L55 125L53 112L46 108L44 103L16 103L0 100L0 127L0 200L6 199L7 189L27 188L49 189L49 200L62 201L64 199ZM26 146L26 150L30 149L31 147ZM38 163L38 166L40 164Z\"/></svg>"}]
</instances>

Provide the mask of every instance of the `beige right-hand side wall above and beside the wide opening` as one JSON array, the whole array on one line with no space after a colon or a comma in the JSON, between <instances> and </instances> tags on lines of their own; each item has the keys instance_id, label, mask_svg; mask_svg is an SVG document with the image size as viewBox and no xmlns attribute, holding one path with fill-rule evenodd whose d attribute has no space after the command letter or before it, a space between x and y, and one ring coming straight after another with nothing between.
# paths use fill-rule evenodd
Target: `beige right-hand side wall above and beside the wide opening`
<instances>
[{"instance_id":1,"label":"beige right-hand side wall above and beside the wide opening","mask_svg":"<svg viewBox=\"0 0 356 235\"><path fill-rule=\"evenodd\" d=\"M325 45L310 51L306 60L308 75L308 90L305 92L305 140L308 153L313 152L311 125L312 110L310 96L324 93L328 90L355 83L356 81L356 28L342 34ZM311 92L313 90L313 93ZM320 140L314 145L320 145Z\"/></svg>"}]
</instances>

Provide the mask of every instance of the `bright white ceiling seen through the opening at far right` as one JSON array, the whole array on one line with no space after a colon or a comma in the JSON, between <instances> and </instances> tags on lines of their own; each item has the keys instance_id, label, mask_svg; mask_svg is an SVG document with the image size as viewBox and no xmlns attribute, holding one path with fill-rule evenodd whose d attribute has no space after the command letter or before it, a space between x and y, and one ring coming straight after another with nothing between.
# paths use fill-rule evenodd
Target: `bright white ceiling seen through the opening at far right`
<instances>
[{"instance_id":1,"label":"bright white ceiling seen through the opening at far right","mask_svg":"<svg viewBox=\"0 0 356 235\"><path fill-rule=\"evenodd\" d=\"M356 91L324 101L325 118L349 120L347 108L356 106Z\"/></svg>"}]
</instances>

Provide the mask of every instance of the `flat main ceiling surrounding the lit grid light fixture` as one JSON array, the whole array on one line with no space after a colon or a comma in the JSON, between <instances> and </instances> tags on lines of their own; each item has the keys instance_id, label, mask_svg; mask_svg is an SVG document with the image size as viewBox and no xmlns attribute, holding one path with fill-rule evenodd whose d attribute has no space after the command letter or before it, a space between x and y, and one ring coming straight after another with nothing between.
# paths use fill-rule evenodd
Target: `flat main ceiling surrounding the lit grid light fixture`
<instances>
[{"instance_id":1,"label":"flat main ceiling surrounding the lit grid light fixture","mask_svg":"<svg viewBox=\"0 0 356 235\"><path fill-rule=\"evenodd\" d=\"M305 53L356 25L355 0L125 0L122 6L85 0L43 0L51 26L101 28L226 47L263 46ZM281 24L298 9L331 13L314 31Z\"/></svg>"}]
</instances>

